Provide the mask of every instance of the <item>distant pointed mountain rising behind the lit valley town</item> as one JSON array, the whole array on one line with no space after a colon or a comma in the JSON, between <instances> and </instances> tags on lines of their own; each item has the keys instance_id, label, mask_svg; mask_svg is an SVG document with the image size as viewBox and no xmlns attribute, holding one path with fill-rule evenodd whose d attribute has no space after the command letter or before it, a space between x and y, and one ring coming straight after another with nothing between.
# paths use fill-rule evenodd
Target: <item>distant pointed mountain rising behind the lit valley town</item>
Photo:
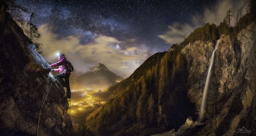
<instances>
[{"instance_id":1,"label":"distant pointed mountain rising behind the lit valley town","mask_svg":"<svg viewBox=\"0 0 256 136\"><path fill-rule=\"evenodd\" d=\"M104 64L96 64L90 71L80 75L76 81L87 88L108 88L123 80L122 77L111 72Z\"/></svg>"}]
</instances>

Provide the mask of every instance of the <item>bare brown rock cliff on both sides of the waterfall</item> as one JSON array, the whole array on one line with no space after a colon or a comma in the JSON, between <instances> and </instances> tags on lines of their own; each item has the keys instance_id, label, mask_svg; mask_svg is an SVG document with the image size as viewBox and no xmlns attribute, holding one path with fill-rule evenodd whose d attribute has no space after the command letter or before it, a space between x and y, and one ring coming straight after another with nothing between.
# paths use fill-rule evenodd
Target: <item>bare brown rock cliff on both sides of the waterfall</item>
<instances>
[{"instance_id":1,"label":"bare brown rock cliff on both sides of the waterfall","mask_svg":"<svg viewBox=\"0 0 256 136\"><path fill-rule=\"evenodd\" d=\"M253 130L256 127L256 23L247 26L235 40L222 35L216 50L207 103L207 124L195 135L214 136L214 105L218 135L238 135L238 128ZM197 41L187 45L189 70L188 97L199 111L203 94L212 42ZM256 132L251 133L253 136Z\"/></svg>"}]
</instances>

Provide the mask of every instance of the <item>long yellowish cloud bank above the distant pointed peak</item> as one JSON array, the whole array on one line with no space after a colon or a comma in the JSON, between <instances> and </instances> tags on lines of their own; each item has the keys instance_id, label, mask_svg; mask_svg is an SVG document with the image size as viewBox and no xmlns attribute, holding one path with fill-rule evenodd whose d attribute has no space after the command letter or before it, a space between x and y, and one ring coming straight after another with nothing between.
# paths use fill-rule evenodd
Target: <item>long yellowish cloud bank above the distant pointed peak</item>
<instances>
[{"instance_id":1,"label":"long yellowish cloud bank above the distant pointed peak","mask_svg":"<svg viewBox=\"0 0 256 136\"><path fill-rule=\"evenodd\" d=\"M65 54L80 72L86 72L91 66L103 63L113 72L127 77L149 57L145 56L145 52L150 52L147 48L121 48L119 46L125 43L109 36L96 36L93 42L81 44L81 36L70 35L60 39L47 25L41 25L38 31L41 33L38 43L43 44L41 50L47 61L57 61L56 53L60 52Z\"/></svg>"}]
</instances>

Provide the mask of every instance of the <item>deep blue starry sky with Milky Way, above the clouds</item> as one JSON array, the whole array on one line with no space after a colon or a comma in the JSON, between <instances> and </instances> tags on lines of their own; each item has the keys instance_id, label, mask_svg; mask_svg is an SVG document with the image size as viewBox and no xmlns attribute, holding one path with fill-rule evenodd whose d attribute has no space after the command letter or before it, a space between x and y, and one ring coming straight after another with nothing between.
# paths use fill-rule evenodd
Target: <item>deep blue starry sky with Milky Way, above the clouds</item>
<instances>
[{"instance_id":1,"label":"deep blue starry sky with Milky Way, above the clouds","mask_svg":"<svg viewBox=\"0 0 256 136\"><path fill-rule=\"evenodd\" d=\"M160 52L166 44L157 35L173 22L186 23L191 14L202 12L212 0L18 0L35 12L35 24L48 23L62 36L82 33L81 42L95 35L120 40L136 38L139 44Z\"/></svg>"}]
</instances>

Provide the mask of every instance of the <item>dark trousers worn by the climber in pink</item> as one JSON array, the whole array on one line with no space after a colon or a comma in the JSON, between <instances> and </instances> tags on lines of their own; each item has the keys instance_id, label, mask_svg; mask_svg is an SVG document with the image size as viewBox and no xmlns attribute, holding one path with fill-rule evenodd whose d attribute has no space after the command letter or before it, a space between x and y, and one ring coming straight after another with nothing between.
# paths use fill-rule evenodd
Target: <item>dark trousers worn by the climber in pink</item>
<instances>
[{"instance_id":1,"label":"dark trousers worn by the climber in pink","mask_svg":"<svg viewBox=\"0 0 256 136\"><path fill-rule=\"evenodd\" d=\"M61 84L61 86L65 85L67 87L67 98L71 98L71 92L70 92L70 85L69 85L69 74L57 74L56 78L58 79L59 83ZM65 81L63 80L63 78L65 79Z\"/></svg>"}]
</instances>

